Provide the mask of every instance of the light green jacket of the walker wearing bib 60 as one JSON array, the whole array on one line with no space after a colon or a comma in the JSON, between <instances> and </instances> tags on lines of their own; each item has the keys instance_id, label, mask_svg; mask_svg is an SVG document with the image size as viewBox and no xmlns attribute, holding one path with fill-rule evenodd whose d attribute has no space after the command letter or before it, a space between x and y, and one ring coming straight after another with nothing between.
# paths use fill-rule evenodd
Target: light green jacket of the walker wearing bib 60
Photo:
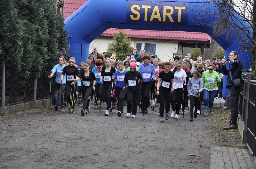
<instances>
[{"instance_id":1,"label":"light green jacket of the walker wearing bib 60","mask_svg":"<svg viewBox=\"0 0 256 169\"><path fill-rule=\"evenodd\" d=\"M218 74L218 72L216 72L215 70L212 71L212 73L209 72L209 70L204 71L203 75L202 75L202 80L204 83L204 87L205 88L215 88L217 86L217 79L220 79L220 76ZM221 79L219 81L219 83L221 82Z\"/></svg>"}]
</instances>

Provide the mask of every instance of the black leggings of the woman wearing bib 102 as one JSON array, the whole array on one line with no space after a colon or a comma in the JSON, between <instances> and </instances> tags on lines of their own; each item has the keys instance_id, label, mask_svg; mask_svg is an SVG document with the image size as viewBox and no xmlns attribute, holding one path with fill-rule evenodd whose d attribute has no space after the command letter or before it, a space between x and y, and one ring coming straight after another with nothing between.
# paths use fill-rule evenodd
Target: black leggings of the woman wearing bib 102
<instances>
[{"instance_id":1,"label":"black leggings of the woman wearing bib 102","mask_svg":"<svg viewBox=\"0 0 256 169\"><path fill-rule=\"evenodd\" d=\"M165 113L168 113L170 111L170 102L171 102L171 97L170 97L170 89L163 89L159 88L159 100L160 100L160 115L161 117L164 117L164 101L165 101Z\"/></svg>"}]
</instances>

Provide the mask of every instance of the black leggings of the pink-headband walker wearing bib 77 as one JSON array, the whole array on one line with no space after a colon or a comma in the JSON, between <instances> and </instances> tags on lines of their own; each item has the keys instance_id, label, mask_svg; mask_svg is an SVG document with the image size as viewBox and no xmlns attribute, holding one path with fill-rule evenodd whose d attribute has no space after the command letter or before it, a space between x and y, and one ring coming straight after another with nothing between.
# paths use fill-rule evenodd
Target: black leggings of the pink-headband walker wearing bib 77
<instances>
[{"instance_id":1,"label":"black leggings of the pink-headband walker wearing bib 77","mask_svg":"<svg viewBox=\"0 0 256 169\"><path fill-rule=\"evenodd\" d=\"M127 90L127 113L132 113L132 115L136 115L138 103L140 100L140 90L131 91Z\"/></svg>"}]
</instances>

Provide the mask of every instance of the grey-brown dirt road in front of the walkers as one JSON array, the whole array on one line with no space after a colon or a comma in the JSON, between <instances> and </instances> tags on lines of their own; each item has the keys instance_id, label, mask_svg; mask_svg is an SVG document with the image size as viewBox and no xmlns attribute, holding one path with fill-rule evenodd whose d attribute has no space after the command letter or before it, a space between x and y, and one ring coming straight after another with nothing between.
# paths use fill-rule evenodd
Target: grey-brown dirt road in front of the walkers
<instances>
[{"instance_id":1,"label":"grey-brown dirt road in front of the walkers","mask_svg":"<svg viewBox=\"0 0 256 169\"><path fill-rule=\"evenodd\" d=\"M110 116L103 108L84 116L80 110L48 107L0 117L0 168L210 167L212 139L202 115L159 123L151 110L144 116L137 110L135 119L116 117L116 110Z\"/></svg>"}]
</instances>

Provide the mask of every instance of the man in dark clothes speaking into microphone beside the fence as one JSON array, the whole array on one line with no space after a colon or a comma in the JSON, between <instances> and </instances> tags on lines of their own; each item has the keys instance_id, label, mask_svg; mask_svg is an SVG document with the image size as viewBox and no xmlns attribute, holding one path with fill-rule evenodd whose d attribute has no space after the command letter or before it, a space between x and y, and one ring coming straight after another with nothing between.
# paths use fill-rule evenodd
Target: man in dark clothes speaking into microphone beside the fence
<instances>
[{"instance_id":1,"label":"man in dark clothes speaking into microphone beside the fence","mask_svg":"<svg viewBox=\"0 0 256 169\"><path fill-rule=\"evenodd\" d=\"M238 59L238 53L236 51L232 51L229 54L229 63L231 63L229 69L226 68L227 62L228 61L222 64L222 71L225 75L228 75L226 88L229 89L229 107L231 110L231 119L229 120L229 124L223 128L225 130L236 129L236 120L238 116L238 97L242 90L242 86L239 88L235 88L233 86L232 79L241 79L243 71L243 63L241 60Z\"/></svg>"}]
</instances>

